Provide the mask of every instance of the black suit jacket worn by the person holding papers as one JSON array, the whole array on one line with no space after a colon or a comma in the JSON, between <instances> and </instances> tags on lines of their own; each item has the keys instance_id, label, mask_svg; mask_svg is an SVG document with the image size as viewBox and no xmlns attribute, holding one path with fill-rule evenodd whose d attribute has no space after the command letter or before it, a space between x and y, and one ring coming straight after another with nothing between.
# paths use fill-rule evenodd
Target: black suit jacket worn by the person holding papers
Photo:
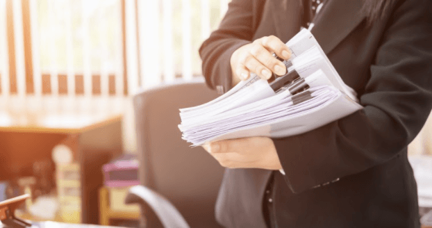
<instances>
[{"instance_id":1,"label":"black suit jacket worn by the person holding papers","mask_svg":"<svg viewBox=\"0 0 432 228\"><path fill-rule=\"evenodd\" d=\"M279 227L419 227L407 145L432 104L432 8L399 0L367 26L363 0L327 0L312 33L365 108L299 136L274 139L286 175L274 173ZM231 54L265 35L287 42L300 0L233 0L200 49L209 86L231 88ZM271 171L226 169L216 205L226 227L265 227Z\"/></svg>"}]
</instances>

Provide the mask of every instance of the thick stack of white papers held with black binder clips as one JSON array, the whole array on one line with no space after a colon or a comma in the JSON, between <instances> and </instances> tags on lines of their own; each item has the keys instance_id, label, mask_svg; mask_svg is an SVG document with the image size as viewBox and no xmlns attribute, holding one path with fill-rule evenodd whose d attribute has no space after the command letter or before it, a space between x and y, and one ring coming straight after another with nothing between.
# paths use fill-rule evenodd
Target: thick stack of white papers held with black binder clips
<instances>
[{"instance_id":1,"label":"thick stack of white papers held with black binder clips","mask_svg":"<svg viewBox=\"0 0 432 228\"><path fill-rule=\"evenodd\" d=\"M183 140L192 146L251 136L283 138L311 131L363 108L321 47L304 29L287 43L285 76L247 81L200 106L182 108Z\"/></svg>"}]
</instances>

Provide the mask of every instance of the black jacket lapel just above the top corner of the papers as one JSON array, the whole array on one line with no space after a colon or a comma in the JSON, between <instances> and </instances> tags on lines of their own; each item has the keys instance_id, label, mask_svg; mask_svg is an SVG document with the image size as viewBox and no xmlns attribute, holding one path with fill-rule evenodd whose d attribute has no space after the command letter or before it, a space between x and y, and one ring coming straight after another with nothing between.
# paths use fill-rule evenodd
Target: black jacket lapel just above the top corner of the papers
<instances>
[{"instance_id":1,"label":"black jacket lapel just above the top corner of the papers","mask_svg":"<svg viewBox=\"0 0 432 228\"><path fill-rule=\"evenodd\" d=\"M314 19L311 30L322 49L329 54L365 19L363 0L327 0Z\"/></svg>"}]
</instances>

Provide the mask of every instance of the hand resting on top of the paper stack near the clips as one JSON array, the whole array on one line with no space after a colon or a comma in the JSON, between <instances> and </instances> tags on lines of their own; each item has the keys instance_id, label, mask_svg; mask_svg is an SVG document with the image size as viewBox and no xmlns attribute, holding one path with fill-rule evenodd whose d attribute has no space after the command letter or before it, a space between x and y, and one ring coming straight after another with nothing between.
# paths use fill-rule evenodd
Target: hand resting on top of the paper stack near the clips
<instances>
[{"instance_id":1,"label":"hand resting on top of the paper stack near the clips","mask_svg":"<svg viewBox=\"0 0 432 228\"><path fill-rule=\"evenodd\" d=\"M248 79L251 72L266 80L272 77L272 72L277 75L285 74L285 65L274 58L273 53L285 60L291 57L290 49L274 35L239 47L233 52L230 60L233 83Z\"/></svg>"}]
</instances>

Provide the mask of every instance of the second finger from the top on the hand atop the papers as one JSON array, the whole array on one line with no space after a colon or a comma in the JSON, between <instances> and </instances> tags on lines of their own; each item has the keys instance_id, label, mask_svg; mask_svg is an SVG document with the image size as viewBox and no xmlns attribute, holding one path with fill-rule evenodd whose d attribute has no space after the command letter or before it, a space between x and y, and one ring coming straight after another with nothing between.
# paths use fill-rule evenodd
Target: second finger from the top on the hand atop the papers
<instances>
[{"instance_id":1,"label":"second finger from the top on the hand atop the papers","mask_svg":"<svg viewBox=\"0 0 432 228\"><path fill-rule=\"evenodd\" d=\"M272 54L259 43L259 41L252 46L251 54L275 74L285 74L285 65L283 65L283 63L278 59L274 58Z\"/></svg>"}]
</instances>

